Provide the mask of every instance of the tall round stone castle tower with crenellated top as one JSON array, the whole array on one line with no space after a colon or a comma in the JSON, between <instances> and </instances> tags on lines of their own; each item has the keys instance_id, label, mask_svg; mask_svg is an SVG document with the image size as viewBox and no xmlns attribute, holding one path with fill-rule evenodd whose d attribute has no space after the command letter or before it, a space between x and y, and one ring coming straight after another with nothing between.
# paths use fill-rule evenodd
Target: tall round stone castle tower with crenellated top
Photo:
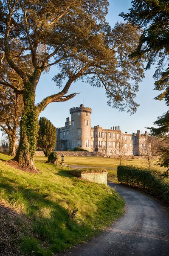
<instances>
[{"instance_id":1,"label":"tall round stone castle tower with crenellated top","mask_svg":"<svg viewBox=\"0 0 169 256\"><path fill-rule=\"evenodd\" d=\"M71 149L80 147L90 151L91 108L70 108L71 114Z\"/></svg>"}]
</instances>

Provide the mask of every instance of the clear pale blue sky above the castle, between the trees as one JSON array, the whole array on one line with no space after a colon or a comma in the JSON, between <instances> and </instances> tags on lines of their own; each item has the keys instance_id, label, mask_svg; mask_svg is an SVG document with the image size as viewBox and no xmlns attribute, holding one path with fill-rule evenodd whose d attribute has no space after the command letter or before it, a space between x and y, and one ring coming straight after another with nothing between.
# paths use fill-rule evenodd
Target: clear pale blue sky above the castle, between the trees
<instances>
[{"instance_id":1,"label":"clear pale blue sky above the castle, between the trees","mask_svg":"<svg viewBox=\"0 0 169 256\"><path fill-rule=\"evenodd\" d=\"M130 8L130 0L110 0L109 15L107 21L113 27L117 21L123 21L118 16L120 12L126 13ZM36 90L36 103L46 96L59 92L52 77L56 73L56 67L52 67L49 74L42 75ZM139 84L139 92L135 101L140 104L137 112L130 116L130 113L119 112L107 105L104 88L93 88L89 84L78 81L70 87L69 93L80 93L68 102L55 102L45 108L40 116L48 118L56 127L65 126L66 117L70 116L69 109L78 107L84 102L85 107L92 108L91 126L100 125L103 128L120 126L122 132L128 133L140 130L144 133L145 127L151 127L158 116L167 111L164 102L154 100L159 94L154 89L152 78L154 68L145 72L144 80Z\"/></svg>"}]
</instances>

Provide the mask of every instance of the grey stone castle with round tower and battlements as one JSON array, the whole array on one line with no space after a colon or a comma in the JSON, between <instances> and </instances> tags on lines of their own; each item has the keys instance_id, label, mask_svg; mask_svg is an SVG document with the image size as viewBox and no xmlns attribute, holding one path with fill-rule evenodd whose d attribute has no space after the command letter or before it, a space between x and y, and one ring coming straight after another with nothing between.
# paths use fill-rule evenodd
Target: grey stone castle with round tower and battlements
<instances>
[{"instance_id":1,"label":"grey stone castle with round tower and battlements","mask_svg":"<svg viewBox=\"0 0 169 256\"><path fill-rule=\"evenodd\" d=\"M56 128L56 151L73 150L80 147L88 151L99 151L105 156L123 154L126 156L139 156L146 150L147 132L127 134L122 133L119 126L103 129L97 125L91 127L91 108L70 108L70 117L66 118L65 126Z\"/></svg>"}]
</instances>

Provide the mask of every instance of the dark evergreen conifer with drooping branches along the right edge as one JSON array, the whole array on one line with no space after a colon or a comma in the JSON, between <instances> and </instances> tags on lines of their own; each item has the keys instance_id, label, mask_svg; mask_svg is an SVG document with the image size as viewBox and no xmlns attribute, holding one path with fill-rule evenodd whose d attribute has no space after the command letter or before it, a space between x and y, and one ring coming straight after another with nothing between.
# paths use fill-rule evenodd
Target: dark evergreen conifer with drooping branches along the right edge
<instances>
[{"instance_id":1,"label":"dark evergreen conifer with drooping branches along the right edge","mask_svg":"<svg viewBox=\"0 0 169 256\"><path fill-rule=\"evenodd\" d=\"M120 15L143 29L138 47L132 52L132 56L144 58L147 61L146 69L156 64L153 76L155 90L161 93L155 99L165 100L166 106L169 107L169 1L132 0L129 11ZM158 128L149 128L151 134L166 141L166 146L161 147L161 166L169 168L169 111L159 116L154 124L158 125Z\"/></svg>"}]
</instances>

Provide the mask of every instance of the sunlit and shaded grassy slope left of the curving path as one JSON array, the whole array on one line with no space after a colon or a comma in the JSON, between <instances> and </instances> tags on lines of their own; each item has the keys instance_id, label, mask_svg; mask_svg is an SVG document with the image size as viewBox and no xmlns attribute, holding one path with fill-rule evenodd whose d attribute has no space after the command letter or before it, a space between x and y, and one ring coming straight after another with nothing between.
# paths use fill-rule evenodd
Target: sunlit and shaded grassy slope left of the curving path
<instances>
[{"instance_id":1,"label":"sunlit and shaded grassy slope left of the curving path","mask_svg":"<svg viewBox=\"0 0 169 256\"><path fill-rule=\"evenodd\" d=\"M113 189L36 158L38 175L7 166L3 160L10 157L0 154L0 204L28 220L19 239L25 254L54 255L90 239L124 212L124 200ZM73 209L78 212L71 219Z\"/></svg>"}]
</instances>

